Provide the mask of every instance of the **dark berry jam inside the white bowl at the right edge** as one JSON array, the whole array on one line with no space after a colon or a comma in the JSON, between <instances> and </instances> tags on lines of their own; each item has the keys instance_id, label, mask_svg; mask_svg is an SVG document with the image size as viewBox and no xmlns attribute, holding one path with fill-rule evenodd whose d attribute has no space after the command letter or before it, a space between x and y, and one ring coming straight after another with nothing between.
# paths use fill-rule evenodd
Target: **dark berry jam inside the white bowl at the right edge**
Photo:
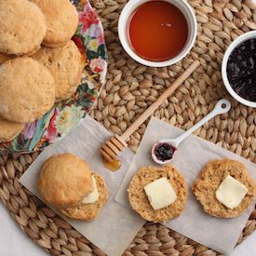
<instances>
[{"instance_id":1,"label":"dark berry jam inside the white bowl at the right edge","mask_svg":"<svg viewBox=\"0 0 256 256\"><path fill-rule=\"evenodd\" d=\"M256 39L249 39L231 53L227 77L231 87L242 98L256 101Z\"/></svg>"}]
</instances>

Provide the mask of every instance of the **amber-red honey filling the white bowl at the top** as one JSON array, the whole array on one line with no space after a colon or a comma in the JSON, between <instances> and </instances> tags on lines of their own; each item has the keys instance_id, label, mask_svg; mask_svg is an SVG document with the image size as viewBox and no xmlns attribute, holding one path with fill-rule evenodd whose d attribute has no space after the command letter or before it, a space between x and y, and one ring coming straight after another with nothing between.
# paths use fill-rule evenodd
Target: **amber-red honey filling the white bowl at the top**
<instances>
[{"instance_id":1,"label":"amber-red honey filling the white bowl at the top","mask_svg":"<svg viewBox=\"0 0 256 256\"><path fill-rule=\"evenodd\" d=\"M176 57L187 37L188 25L182 11L165 1L142 4L129 20L130 45L147 61L168 61Z\"/></svg>"}]
</instances>

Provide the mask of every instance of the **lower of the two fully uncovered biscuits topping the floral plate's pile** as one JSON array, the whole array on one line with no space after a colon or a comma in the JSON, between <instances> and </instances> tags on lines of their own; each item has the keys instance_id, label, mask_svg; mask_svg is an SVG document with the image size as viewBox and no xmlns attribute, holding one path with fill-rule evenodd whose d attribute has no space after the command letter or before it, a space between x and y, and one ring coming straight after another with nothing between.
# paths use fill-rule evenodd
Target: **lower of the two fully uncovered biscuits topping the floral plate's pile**
<instances>
[{"instance_id":1,"label":"lower of the two fully uncovered biscuits topping the floral plate's pile","mask_svg":"<svg viewBox=\"0 0 256 256\"><path fill-rule=\"evenodd\" d=\"M29 57L0 66L0 115L9 121L31 123L45 115L55 101L54 78Z\"/></svg>"}]
</instances>

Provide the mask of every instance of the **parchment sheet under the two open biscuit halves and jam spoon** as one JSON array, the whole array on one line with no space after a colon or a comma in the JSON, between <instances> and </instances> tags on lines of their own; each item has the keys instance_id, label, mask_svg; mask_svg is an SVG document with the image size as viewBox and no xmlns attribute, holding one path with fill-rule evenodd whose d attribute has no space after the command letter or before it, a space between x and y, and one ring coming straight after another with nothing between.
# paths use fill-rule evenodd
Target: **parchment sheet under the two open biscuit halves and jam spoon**
<instances>
[{"instance_id":1,"label":"parchment sheet under the two open biscuit halves and jam spoon","mask_svg":"<svg viewBox=\"0 0 256 256\"><path fill-rule=\"evenodd\" d=\"M128 173L118 190L115 200L122 205L128 204L128 183L138 170L138 168L154 165L150 151L155 141L161 139L173 139L181 134L182 130L174 128L168 123L152 117L142 138L137 154L128 168ZM164 223L166 226L187 236L198 243L215 249L221 253L229 254L236 245L249 214L254 207L251 206L242 216L233 219L215 218L205 213L200 203L195 199L190 187L197 178L200 170L209 162L218 158L231 158L244 163L254 181L256 181L256 165L245 158L222 149L209 141L191 135L186 141L180 144L171 162L178 168L185 177L188 187L188 200L182 215L170 222ZM136 212L134 211L134 214Z\"/></svg>"}]
</instances>

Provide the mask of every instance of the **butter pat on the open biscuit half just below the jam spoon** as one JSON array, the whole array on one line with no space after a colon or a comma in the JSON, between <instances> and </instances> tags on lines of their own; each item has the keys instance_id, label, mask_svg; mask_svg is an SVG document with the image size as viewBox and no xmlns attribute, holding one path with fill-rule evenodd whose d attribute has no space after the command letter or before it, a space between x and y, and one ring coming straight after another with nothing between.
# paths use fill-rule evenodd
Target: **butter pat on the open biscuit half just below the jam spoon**
<instances>
[{"instance_id":1,"label":"butter pat on the open biscuit half just below the jam spoon","mask_svg":"<svg viewBox=\"0 0 256 256\"><path fill-rule=\"evenodd\" d=\"M144 191L155 210L168 207L177 198L174 189L165 177L145 185Z\"/></svg>"}]
</instances>

